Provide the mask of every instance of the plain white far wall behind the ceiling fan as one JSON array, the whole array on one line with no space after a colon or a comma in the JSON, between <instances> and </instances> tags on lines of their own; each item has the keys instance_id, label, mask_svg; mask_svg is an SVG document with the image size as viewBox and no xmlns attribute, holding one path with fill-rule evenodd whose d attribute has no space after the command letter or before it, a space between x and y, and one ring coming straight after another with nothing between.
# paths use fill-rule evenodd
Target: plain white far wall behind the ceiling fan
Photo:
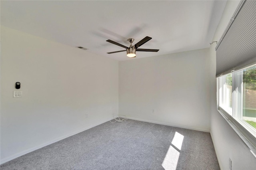
<instances>
[{"instance_id":1,"label":"plain white far wall behind the ceiling fan","mask_svg":"<svg viewBox=\"0 0 256 170\"><path fill-rule=\"evenodd\" d=\"M208 51L119 61L119 114L209 132Z\"/></svg>"}]
</instances>

